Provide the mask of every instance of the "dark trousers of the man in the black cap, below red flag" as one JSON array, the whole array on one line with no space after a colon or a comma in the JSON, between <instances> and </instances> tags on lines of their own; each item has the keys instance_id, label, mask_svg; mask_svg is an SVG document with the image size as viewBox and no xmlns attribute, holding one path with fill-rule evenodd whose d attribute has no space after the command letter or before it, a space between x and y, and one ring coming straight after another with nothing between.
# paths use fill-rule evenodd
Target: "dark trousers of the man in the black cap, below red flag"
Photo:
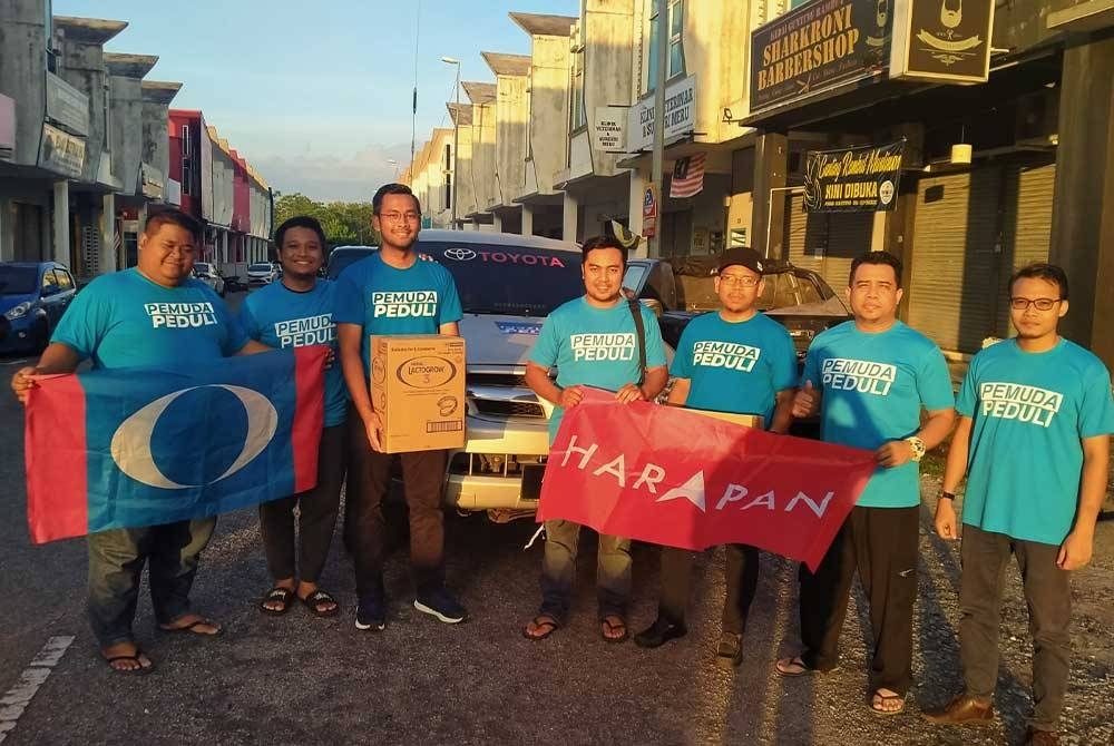
<instances>
[{"instance_id":1,"label":"dark trousers of the man in the black cap, below red flag","mask_svg":"<svg viewBox=\"0 0 1114 746\"><path fill-rule=\"evenodd\" d=\"M723 603L723 631L742 635L746 615L759 585L759 550L746 544L727 544L727 597ZM684 624L692 588L693 552L662 547L662 598L657 615Z\"/></svg>"}]
</instances>

